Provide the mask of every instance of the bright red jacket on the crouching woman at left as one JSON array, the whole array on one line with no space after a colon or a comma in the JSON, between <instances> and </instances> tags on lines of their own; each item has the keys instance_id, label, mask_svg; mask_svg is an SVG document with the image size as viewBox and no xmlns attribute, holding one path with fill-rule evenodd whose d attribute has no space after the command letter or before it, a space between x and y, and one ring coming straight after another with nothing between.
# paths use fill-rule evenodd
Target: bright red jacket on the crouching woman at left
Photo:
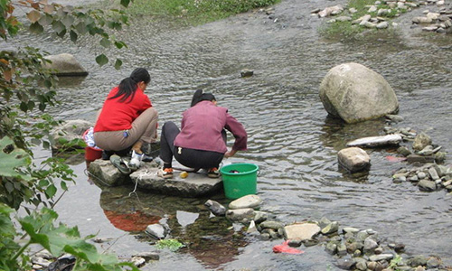
<instances>
[{"instance_id":1,"label":"bright red jacket on the crouching woman at left","mask_svg":"<svg viewBox=\"0 0 452 271\"><path fill-rule=\"evenodd\" d=\"M151 100L143 92L137 88L134 98L129 101L127 98L124 102L119 102L122 98L111 98L117 94L118 87L111 89L108 97L104 102L102 111L100 112L98 121L94 126L94 132L120 131L128 130L132 127L132 122L145 111L152 107Z\"/></svg>"}]
</instances>

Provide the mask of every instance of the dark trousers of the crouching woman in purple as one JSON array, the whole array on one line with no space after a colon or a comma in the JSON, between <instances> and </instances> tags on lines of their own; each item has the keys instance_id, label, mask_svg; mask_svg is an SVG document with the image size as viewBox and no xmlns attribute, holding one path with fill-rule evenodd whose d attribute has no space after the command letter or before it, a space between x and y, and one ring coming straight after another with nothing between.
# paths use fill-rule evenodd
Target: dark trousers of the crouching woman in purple
<instances>
[{"instance_id":1,"label":"dark trousers of the crouching woman in purple","mask_svg":"<svg viewBox=\"0 0 452 271\"><path fill-rule=\"evenodd\" d=\"M224 154L175 146L174 139L180 132L172 121L165 122L162 127L160 158L164 161L164 167L172 167L173 156L180 164L194 169L218 168L220 166ZM226 132L224 130L221 135L226 142Z\"/></svg>"}]
</instances>

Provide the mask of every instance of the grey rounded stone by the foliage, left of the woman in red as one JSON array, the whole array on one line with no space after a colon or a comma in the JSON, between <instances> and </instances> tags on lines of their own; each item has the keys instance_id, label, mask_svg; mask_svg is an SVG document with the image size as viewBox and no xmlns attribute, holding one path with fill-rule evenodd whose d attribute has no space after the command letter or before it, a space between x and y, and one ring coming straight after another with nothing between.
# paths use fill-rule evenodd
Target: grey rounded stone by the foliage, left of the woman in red
<instances>
[{"instance_id":1,"label":"grey rounded stone by the foliage, left of the woman in red","mask_svg":"<svg viewBox=\"0 0 452 271\"><path fill-rule=\"evenodd\" d=\"M59 150L62 143L73 139L81 139L81 135L90 127L92 123L83 119L68 120L53 128L51 134L52 148Z\"/></svg>"}]
</instances>

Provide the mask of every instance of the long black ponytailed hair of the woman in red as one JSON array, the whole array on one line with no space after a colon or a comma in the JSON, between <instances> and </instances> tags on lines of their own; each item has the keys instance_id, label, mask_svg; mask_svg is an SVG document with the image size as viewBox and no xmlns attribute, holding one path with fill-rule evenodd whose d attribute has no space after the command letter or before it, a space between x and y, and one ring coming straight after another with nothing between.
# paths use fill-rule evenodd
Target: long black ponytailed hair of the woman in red
<instances>
[{"instance_id":1,"label":"long black ponytailed hair of the woman in red","mask_svg":"<svg viewBox=\"0 0 452 271\"><path fill-rule=\"evenodd\" d=\"M119 102L131 102L135 97L135 91L137 90L137 84L139 82L145 82L148 84L151 81L151 76L145 68L137 68L130 74L129 77L122 79L119 83L118 93L112 98L118 98Z\"/></svg>"}]
</instances>

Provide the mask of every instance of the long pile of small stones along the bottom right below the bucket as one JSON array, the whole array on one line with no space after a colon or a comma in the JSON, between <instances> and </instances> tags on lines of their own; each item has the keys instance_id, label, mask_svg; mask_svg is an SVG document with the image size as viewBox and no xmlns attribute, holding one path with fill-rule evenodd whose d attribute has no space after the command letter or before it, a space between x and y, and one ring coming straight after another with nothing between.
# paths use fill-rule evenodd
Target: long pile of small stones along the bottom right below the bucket
<instances>
[{"instance_id":1,"label":"long pile of small stones along the bottom right below the bucket","mask_svg":"<svg viewBox=\"0 0 452 271\"><path fill-rule=\"evenodd\" d=\"M248 195L231 201L229 210L217 201L209 200L204 204L214 215L249 225L247 231L263 240L285 238L293 248L322 246L336 258L335 265L344 270L447 270L438 257L400 257L405 257L405 246L386 243L373 229L340 227L338 221L326 218L285 225L274 216L255 210L261 202L259 196Z\"/></svg>"}]
</instances>

